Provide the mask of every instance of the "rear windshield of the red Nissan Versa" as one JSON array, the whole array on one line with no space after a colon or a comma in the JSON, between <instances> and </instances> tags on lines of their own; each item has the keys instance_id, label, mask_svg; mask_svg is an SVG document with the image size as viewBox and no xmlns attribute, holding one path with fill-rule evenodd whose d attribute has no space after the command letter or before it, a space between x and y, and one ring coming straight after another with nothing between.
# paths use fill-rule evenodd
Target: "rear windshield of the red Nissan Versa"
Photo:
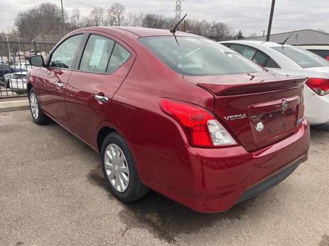
<instances>
[{"instance_id":1,"label":"rear windshield of the red Nissan Versa","mask_svg":"<svg viewBox=\"0 0 329 246\"><path fill-rule=\"evenodd\" d=\"M244 56L206 38L141 37L139 42L182 75L255 73L263 69Z\"/></svg>"}]
</instances>

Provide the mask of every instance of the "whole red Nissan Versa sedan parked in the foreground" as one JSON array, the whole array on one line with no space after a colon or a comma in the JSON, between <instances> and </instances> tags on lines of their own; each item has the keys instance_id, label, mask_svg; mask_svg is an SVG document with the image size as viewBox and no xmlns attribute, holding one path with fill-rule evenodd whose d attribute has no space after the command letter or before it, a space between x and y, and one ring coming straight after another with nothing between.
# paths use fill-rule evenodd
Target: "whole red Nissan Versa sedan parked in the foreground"
<instances>
[{"instance_id":1,"label":"whole red Nissan Versa sedan parked in the foreground","mask_svg":"<svg viewBox=\"0 0 329 246\"><path fill-rule=\"evenodd\" d=\"M31 113L101 153L121 201L149 188L219 212L282 181L307 159L305 77L271 73L184 32L93 27L30 58Z\"/></svg>"}]
</instances>

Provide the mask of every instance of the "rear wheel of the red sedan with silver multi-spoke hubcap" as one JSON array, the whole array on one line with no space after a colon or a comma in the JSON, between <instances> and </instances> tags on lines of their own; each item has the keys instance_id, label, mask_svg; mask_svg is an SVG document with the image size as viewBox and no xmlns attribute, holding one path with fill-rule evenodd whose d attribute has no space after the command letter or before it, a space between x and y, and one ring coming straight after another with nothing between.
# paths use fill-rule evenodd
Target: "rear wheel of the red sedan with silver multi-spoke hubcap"
<instances>
[{"instance_id":1,"label":"rear wheel of the red sedan with silver multi-spoke hubcap","mask_svg":"<svg viewBox=\"0 0 329 246\"><path fill-rule=\"evenodd\" d=\"M120 134L112 132L105 137L101 157L109 190L120 201L136 201L149 192L140 181L132 152Z\"/></svg>"}]
</instances>

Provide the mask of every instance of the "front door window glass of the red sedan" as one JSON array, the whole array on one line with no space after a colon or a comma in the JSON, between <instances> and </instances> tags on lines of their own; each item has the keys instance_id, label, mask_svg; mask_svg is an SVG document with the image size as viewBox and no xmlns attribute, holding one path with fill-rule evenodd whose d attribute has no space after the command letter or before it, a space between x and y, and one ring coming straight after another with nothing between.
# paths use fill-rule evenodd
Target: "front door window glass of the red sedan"
<instances>
[{"instance_id":1,"label":"front door window glass of the red sedan","mask_svg":"<svg viewBox=\"0 0 329 246\"><path fill-rule=\"evenodd\" d=\"M57 49L51 54L49 62L50 67L55 68L72 68L72 62L76 55L80 44L82 34L78 34L66 39Z\"/></svg>"}]
</instances>

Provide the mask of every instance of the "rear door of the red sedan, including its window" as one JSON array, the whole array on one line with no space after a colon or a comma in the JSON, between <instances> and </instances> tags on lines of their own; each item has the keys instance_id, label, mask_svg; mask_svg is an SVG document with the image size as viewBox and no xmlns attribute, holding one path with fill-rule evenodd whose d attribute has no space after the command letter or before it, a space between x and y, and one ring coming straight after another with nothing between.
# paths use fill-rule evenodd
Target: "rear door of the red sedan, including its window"
<instances>
[{"instance_id":1,"label":"rear door of the red sedan, including its window","mask_svg":"<svg viewBox=\"0 0 329 246\"><path fill-rule=\"evenodd\" d=\"M105 119L111 99L136 55L102 32L90 33L85 43L80 62L69 78L65 100L70 129L95 146L96 128Z\"/></svg>"}]
</instances>

